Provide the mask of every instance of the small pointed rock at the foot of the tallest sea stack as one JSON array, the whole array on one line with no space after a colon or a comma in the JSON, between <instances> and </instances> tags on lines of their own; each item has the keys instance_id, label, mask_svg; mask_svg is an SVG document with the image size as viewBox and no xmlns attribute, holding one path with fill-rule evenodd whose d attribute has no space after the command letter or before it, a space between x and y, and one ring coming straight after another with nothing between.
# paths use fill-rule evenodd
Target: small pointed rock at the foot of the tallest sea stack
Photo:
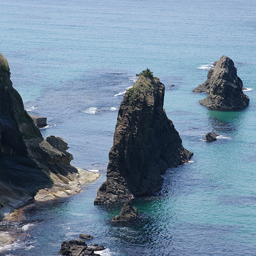
<instances>
[{"instance_id":1,"label":"small pointed rock at the foot of the tallest sea stack","mask_svg":"<svg viewBox=\"0 0 256 256\"><path fill-rule=\"evenodd\" d=\"M131 200L127 200L119 215L116 215L112 221L113 222L132 222L140 220L138 210L135 206L132 206Z\"/></svg>"}]
</instances>

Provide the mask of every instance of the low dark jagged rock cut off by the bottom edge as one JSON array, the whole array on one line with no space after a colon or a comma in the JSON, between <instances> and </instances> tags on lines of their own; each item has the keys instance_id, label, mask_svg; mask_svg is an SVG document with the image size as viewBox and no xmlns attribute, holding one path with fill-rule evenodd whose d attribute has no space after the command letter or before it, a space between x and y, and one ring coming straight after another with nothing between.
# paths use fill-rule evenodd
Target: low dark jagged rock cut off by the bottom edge
<instances>
[{"instance_id":1,"label":"low dark jagged rock cut off by the bottom edge","mask_svg":"<svg viewBox=\"0 0 256 256\"><path fill-rule=\"evenodd\" d=\"M82 240L62 242L59 254L62 256L100 256L95 254L94 249L89 248Z\"/></svg>"}]
</instances>

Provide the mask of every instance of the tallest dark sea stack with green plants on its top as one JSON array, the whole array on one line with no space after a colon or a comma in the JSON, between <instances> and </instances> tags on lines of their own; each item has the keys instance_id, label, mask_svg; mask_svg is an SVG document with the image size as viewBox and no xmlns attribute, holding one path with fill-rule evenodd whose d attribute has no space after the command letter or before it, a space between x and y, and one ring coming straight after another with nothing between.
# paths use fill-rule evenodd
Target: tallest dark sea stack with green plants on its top
<instances>
[{"instance_id":1,"label":"tallest dark sea stack with green plants on its top","mask_svg":"<svg viewBox=\"0 0 256 256\"><path fill-rule=\"evenodd\" d=\"M154 193L161 188L169 167L193 155L163 109L164 84L140 75L127 90L117 117L114 144L109 153L106 181L95 204L115 203Z\"/></svg>"}]
</instances>

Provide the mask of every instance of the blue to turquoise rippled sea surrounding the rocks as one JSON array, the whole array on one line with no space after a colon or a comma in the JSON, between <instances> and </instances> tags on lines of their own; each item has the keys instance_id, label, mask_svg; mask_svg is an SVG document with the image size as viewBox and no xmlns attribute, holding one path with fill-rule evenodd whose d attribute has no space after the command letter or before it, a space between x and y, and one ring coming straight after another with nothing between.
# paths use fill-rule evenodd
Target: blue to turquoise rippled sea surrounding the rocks
<instances>
[{"instance_id":1,"label":"blue to turquoise rippled sea surrounding the rocks","mask_svg":"<svg viewBox=\"0 0 256 256\"><path fill-rule=\"evenodd\" d=\"M81 194L26 208L0 223L7 255L56 256L80 233L101 255L256 255L255 0L0 0L0 51L44 137L69 143L72 164L101 175ZM222 55L248 88L242 111L210 111L192 90ZM142 220L113 224L117 206L95 206L105 180L120 102L150 68L165 84L164 108L191 161L170 168L159 193L134 201ZM170 85L175 87L170 89ZM220 134L207 143L204 135ZM2 248L3 249L3 248Z\"/></svg>"}]
</instances>

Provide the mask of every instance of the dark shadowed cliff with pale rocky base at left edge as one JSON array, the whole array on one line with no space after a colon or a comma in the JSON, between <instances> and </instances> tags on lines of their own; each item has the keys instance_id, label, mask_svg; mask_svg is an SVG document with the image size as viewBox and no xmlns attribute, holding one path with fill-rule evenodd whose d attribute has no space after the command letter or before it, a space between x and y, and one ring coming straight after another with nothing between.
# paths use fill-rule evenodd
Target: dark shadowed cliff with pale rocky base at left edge
<instances>
[{"instance_id":1,"label":"dark shadowed cliff with pale rocky base at left edge","mask_svg":"<svg viewBox=\"0 0 256 256\"><path fill-rule=\"evenodd\" d=\"M18 208L38 191L38 200L49 194L52 199L78 193L79 172L70 165L73 157L66 151L67 142L55 136L42 138L12 87L3 59L0 53L0 209L7 204Z\"/></svg>"}]
</instances>

